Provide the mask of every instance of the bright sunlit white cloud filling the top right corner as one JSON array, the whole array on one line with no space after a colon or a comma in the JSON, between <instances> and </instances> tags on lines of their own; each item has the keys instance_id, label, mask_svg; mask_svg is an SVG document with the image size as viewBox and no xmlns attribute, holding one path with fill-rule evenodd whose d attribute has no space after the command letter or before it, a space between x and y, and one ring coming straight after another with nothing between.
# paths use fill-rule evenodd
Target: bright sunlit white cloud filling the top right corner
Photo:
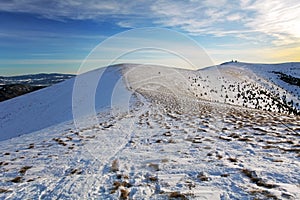
<instances>
[{"instance_id":1,"label":"bright sunlit white cloud filling the top right corner","mask_svg":"<svg viewBox=\"0 0 300 200\"><path fill-rule=\"evenodd\" d=\"M244 4L244 10L254 11L245 25L274 37L273 44L286 45L300 39L300 2L298 0L257 0Z\"/></svg>"}]
</instances>

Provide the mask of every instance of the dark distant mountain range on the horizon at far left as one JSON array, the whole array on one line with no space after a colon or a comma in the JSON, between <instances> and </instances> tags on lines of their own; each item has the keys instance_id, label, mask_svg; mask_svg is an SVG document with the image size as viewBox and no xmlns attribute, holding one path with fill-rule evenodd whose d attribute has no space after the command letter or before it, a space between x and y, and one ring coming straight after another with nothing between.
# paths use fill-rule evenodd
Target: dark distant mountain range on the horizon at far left
<instances>
[{"instance_id":1,"label":"dark distant mountain range on the horizon at far left","mask_svg":"<svg viewBox=\"0 0 300 200\"><path fill-rule=\"evenodd\" d=\"M29 74L21 76L0 76L0 101L5 101L29 92L74 77L72 74Z\"/></svg>"}]
</instances>

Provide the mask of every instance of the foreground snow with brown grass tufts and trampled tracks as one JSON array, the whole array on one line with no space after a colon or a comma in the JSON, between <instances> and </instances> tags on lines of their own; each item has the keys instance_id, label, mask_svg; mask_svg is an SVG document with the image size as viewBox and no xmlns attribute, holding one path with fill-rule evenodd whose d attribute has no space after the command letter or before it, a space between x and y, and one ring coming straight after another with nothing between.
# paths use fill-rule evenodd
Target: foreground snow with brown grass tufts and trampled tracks
<instances>
[{"instance_id":1,"label":"foreground snow with brown grass tufts and trampled tracks","mask_svg":"<svg viewBox=\"0 0 300 200\"><path fill-rule=\"evenodd\" d=\"M299 198L299 118L193 105L188 113L147 105L79 132L70 124L3 141L1 196Z\"/></svg>"}]
</instances>

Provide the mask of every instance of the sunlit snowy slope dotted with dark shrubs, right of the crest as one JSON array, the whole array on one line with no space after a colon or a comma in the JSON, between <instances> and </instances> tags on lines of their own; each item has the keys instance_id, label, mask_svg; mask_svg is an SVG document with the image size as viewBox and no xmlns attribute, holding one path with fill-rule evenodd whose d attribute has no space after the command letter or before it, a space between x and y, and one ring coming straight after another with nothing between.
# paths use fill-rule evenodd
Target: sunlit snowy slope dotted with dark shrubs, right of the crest
<instances>
[{"instance_id":1,"label":"sunlit snowy slope dotted with dark shrubs, right of the crest","mask_svg":"<svg viewBox=\"0 0 300 200\"><path fill-rule=\"evenodd\" d=\"M125 70L134 90L300 114L300 63L225 63L198 71L140 66ZM178 103L178 102L177 102ZM184 106L184 105L183 105Z\"/></svg>"}]
</instances>

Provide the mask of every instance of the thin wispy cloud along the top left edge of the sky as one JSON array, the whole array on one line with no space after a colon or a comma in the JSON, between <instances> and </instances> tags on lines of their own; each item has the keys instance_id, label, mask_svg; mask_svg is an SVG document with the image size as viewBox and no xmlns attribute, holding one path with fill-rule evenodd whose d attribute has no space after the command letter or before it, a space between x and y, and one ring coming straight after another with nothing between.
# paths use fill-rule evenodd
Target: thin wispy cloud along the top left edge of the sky
<instances>
[{"instance_id":1,"label":"thin wispy cloud along the top left edge of the sky","mask_svg":"<svg viewBox=\"0 0 300 200\"><path fill-rule=\"evenodd\" d=\"M142 2L142 1L140 1ZM101 16L121 16L133 14L138 6L131 1L120 4L117 0L12 0L0 2L0 10L8 12L35 13L50 19L96 19Z\"/></svg>"}]
</instances>

